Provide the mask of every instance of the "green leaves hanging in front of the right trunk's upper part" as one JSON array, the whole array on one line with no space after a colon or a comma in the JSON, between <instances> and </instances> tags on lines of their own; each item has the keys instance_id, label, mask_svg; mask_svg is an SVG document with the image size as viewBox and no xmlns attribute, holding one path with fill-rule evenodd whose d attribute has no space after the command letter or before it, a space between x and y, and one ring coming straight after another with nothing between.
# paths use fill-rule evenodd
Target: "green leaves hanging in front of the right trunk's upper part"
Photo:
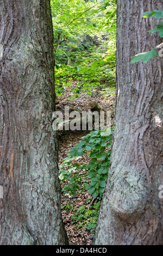
<instances>
[{"instance_id":1,"label":"green leaves hanging in front of the right trunk's upper part","mask_svg":"<svg viewBox=\"0 0 163 256\"><path fill-rule=\"evenodd\" d=\"M143 17L151 17L154 16L157 19L163 18L163 11L162 10L154 10L154 11L146 11L146 13L143 13ZM151 31L148 31L149 33L153 32L159 32L159 36L163 37L163 22L160 23L160 25L155 25L157 28L152 29ZM158 52L155 51L156 48L159 48L159 46L156 46L151 51L148 52L142 52L134 56L134 58L131 60L131 63L140 62L140 60L143 61L143 63L147 63L148 60L152 59L154 56L159 56ZM161 57L161 56L160 56Z\"/></svg>"}]
</instances>

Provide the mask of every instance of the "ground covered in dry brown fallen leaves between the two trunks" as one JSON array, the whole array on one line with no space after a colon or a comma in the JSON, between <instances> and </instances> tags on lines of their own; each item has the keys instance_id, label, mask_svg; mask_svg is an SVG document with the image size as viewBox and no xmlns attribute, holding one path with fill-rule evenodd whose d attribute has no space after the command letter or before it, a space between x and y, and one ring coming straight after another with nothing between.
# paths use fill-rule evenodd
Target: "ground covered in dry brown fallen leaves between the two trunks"
<instances>
[{"instance_id":1,"label":"ground covered in dry brown fallen leaves between the two trunks","mask_svg":"<svg viewBox=\"0 0 163 256\"><path fill-rule=\"evenodd\" d=\"M72 81L71 81L72 82ZM84 96L80 94L79 98L67 99L73 96L73 88L77 85L77 81L72 82L72 87L67 87L66 91L56 99L57 110L64 111L68 106L70 109L82 111L89 111L88 105L90 101L95 101L101 107L101 111L111 112L111 126L114 123L114 102L115 96L109 94L109 91L103 94L103 90L99 87L91 89L92 94ZM79 141L90 131L61 131L59 132L59 165L67 157L67 152L73 148ZM87 155L83 156L82 161L87 163ZM67 184L68 181L61 183L61 189ZM81 207L84 206L87 210L92 210L91 195L85 191L77 194L77 197L66 196L61 192L61 207L62 218L65 224L65 229L68 235L68 241L75 245L91 245L94 230L86 228L86 221L73 221L73 216L81 214ZM76 218L77 219L77 218ZM86 220L86 217L85 217Z\"/></svg>"}]
</instances>

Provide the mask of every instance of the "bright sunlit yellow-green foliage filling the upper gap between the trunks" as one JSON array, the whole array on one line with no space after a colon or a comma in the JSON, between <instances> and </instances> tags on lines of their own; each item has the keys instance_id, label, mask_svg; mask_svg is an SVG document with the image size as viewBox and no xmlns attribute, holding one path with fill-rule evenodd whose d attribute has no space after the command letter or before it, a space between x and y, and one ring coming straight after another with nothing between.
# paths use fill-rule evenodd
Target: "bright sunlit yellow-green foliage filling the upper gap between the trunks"
<instances>
[{"instance_id":1,"label":"bright sunlit yellow-green foliage filling the upper gap between the trunks","mask_svg":"<svg viewBox=\"0 0 163 256\"><path fill-rule=\"evenodd\" d=\"M61 96L78 80L74 96L91 94L91 87L115 77L115 1L51 1L55 92Z\"/></svg>"}]
</instances>

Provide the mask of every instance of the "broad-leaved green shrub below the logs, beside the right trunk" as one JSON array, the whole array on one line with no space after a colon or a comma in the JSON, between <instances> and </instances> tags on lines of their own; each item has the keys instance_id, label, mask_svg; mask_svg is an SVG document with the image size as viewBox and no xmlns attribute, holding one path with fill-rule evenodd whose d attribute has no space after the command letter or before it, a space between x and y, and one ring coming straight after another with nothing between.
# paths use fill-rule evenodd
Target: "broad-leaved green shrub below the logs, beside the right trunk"
<instances>
[{"instance_id":1,"label":"broad-leaved green shrub below the logs, beside the right trunk","mask_svg":"<svg viewBox=\"0 0 163 256\"><path fill-rule=\"evenodd\" d=\"M105 131L91 131L68 152L59 169L61 182L69 180L68 185L63 188L65 193L76 196L77 190L82 192L86 189L93 198L104 193L110 164L111 138L112 128ZM74 163L85 154L89 155L89 164ZM83 170L86 170L85 180L81 175Z\"/></svg>"}]
</instances>

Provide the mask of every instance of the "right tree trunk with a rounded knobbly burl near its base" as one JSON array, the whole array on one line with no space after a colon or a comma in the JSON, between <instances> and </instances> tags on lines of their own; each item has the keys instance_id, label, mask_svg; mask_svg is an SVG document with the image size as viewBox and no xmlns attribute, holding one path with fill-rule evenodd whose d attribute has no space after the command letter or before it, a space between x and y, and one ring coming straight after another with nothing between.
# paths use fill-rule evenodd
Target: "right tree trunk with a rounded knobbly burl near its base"
<instances>
[{"instance_id":1,"label":"right tree trunk with a rounded knobbly burl near its base","mask_svg":"<svg viewBox=\"0 0 163 256\"><path fill-rule=\"evenodd\" d=\"M116 112L111 164L94 245L162 245L162 58L130 64L161 40L143 12L158 0L117 0Z\"/></svg>"}]
</instances>

